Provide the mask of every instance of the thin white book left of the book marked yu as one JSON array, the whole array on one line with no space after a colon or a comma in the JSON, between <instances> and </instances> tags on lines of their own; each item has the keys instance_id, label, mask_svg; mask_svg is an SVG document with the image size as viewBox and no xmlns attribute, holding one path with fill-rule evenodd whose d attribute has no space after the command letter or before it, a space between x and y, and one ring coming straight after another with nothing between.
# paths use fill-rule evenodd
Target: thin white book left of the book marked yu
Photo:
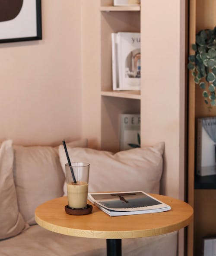
<instances>
[{"instance_id":1,"label":"thin white book left of the book marked yu","mask_svg":"<svg viewBox=\"0 0 216 256\"><path fill-rule=\"evenodd\" d=\"M117 33L111 33L112 42L112 89L119 90L118 83L118 52L117 52Z\"/></svg>"}]
</instances>

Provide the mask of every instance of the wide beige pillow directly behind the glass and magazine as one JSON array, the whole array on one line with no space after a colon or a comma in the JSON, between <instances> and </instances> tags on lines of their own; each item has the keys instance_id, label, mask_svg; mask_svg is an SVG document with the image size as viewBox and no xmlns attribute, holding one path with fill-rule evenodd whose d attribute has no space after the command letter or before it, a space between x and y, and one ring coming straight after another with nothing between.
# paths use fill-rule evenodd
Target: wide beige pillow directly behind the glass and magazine
<instances>
[{"instance_id":1,"label":"wide beige pillow directly behind the glass and magazine","mask_svg":"<svg viewBox=\"0 0 216 256\"><path fill-rule=\"evenodd\" d=\"M164 143L154 147L134 148L113 154L90 148L67 147L71 162L90 163L89 192L138 191L159 193ZM59 147L63 170L67 163L64 147ZM67 193L67 192L66 192Z\"/></svg>"}]
</instances>

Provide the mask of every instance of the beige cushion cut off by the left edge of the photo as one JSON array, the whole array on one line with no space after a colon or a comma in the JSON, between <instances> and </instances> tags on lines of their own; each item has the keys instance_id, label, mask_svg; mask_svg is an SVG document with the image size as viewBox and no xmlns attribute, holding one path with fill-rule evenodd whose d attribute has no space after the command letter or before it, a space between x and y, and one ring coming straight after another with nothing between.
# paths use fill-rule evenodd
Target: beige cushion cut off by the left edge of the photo
<instances>
[{"instance_id":1,"label":"beige cushion cut off by the left edge of the photo","mask_svg":"<svg viewBox=\"0 0 216 256\"><path fill-rule=\"evenodd\" d=\"M0 147L0 225L0 239L16 236L25 229L25 222L18 210L13 182L11 140L3 141Z\"/></svg>"}]
</instances>

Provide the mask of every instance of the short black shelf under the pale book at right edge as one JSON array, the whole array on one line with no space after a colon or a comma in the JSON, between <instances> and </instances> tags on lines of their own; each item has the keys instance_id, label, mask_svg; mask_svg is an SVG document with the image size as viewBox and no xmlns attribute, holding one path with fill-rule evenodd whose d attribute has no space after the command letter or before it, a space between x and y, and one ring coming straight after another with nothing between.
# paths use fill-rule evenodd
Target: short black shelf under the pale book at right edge
<instances>
[{"instance_id":1,"label":"short black shelf under the pale book at right edge","mask_svg":"<svg viewBox=\"0 0 216 256\"><path fill-rule=\"evenodd\" d=\"M216 189L216 174L208 176L194 176L194 189Z\"/></svg>"}]
</instances>

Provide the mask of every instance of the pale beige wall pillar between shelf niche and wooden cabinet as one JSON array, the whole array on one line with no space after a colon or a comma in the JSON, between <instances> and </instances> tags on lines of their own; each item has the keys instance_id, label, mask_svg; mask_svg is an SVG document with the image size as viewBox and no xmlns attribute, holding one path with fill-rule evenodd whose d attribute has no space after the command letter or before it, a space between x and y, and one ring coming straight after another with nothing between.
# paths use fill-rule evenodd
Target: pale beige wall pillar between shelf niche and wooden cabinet
<instances>
[{"instance_id":1,"label":"pale beige wall pillar between shelf niche and wooden cabinet","mask_svg":"<svg viewBox=\"0 0 216 256\"><path fill-rule=\"evenodd\" d=\"M161 192L184 199L185 1L144 0L144 6L142 144L165 141Z\"/></svg>"}]
</instances>

